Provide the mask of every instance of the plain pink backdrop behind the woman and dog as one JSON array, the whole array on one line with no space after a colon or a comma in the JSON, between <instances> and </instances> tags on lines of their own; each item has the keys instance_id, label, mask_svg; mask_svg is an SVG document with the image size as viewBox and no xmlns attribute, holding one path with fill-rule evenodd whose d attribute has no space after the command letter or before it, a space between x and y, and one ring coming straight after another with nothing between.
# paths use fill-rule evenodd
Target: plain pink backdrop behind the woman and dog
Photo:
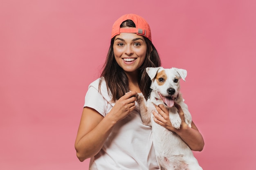
<instances>
[{"instance_id":1,"label":"plain pink backdrop behind the woman and dog","mask_svg":"<svg viewBox=\"0 0 256 170\"><path fill-rule=\"evenodd\" d=\"M205 140L204 170L254 170L254 0L1 0L0 169L88 170L74 140L113 22L143 16Z\"/></svg>"}]
</instances>

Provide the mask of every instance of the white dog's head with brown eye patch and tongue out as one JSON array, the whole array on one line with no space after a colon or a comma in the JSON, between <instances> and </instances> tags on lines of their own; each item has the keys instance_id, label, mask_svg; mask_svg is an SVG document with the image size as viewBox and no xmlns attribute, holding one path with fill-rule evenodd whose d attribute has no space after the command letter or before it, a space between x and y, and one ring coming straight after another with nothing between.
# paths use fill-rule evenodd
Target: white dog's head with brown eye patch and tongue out
<instances>
[{"instance_id":1,"label":"white dog's head with brown eye patch and tongue out","mask_svg":"<svg viewBox=\"0 0 256 170\"><path fill-rule=\"evenodd\" d=\"M152 80L150 88L154 93L156 100L162 102L169 108L173 107L175 100L180 93L180 79L185 81L186 70L179 68L146 68L150 79Z\"/></svg>"}]
</instances>

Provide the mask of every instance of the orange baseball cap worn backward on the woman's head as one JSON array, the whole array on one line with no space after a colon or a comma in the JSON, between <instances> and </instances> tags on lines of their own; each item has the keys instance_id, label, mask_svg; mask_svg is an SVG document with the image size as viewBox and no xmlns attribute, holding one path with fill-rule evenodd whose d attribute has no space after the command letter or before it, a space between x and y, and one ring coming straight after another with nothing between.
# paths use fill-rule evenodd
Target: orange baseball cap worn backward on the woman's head
<instances>
[{"instance_id":1,"label":"orange baseball cap worn backward on the woman's head","mask_svg":"<svg viewBox=\"0 0 256 170\"><path fill-rule=\"evenodd\" d=\"M120 28L121 23L126 20L132 20L135 23L136 28ZM133 13L121 16L113 24L111 38L119 35L120 33L137 33L137 35L142 35L152 41L148 22L146 22L146 20L141 16Z\"/></svg>"}]
</instances>

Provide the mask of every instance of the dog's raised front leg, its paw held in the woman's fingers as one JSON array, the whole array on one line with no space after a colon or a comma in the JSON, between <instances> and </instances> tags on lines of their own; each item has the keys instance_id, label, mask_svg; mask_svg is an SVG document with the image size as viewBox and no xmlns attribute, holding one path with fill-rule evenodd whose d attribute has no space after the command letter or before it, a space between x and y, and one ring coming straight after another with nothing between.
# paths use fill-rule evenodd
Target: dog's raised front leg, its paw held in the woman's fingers
<instances>
[{"instance_id":1,"label":"dog's raised front leg, its paw held in the woman's fingers","mask_svg":"<svg viewBox=\"0 0 256 170\"><path fill-rule=\"evenodd\" d=\"M141 93L138 93L137 102L139 104L139 111L142 123L144 125L150 126L150 113L148 113L148 108L146 106L146 99Z\"/></svg>"}]
</instances>

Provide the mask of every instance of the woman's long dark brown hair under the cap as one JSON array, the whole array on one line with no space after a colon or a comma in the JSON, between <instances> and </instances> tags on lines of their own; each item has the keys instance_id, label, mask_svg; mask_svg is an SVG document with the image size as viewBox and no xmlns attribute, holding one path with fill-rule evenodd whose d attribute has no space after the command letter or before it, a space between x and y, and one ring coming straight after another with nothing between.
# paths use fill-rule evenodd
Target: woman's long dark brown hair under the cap
<instances>
[{"instance_id":1,"label":"woman's long dark brown hair under the cap","mask_svg":"<svg viewBox=\"0 0 256 170\"><path fill-rule=\"evenodd\" d=\"M136 27L135 23L132 20L126 20L122 22L120 28L123 27ZM150 94L150 84L151 80L148 74L146 73L147 67L159 67L161 66L161 61L155 46L152 44L148 38L144 37L147 45L146 51L146 59L143 64L138 68L139 76L138 76L138 84L139 88L147 99ZM101 73L101 78L99 82L99 91L102 81L105 79L108 94L112 95L112 102L119 99L125 93L129 92L129 85L128 85L128 77L126 76L123 68L121 68L114 56L113 45L114 45L115 37L111 39L110 48L108 50L108 55L103 66L103 71Z\"/></svg>"}]
</instances>

